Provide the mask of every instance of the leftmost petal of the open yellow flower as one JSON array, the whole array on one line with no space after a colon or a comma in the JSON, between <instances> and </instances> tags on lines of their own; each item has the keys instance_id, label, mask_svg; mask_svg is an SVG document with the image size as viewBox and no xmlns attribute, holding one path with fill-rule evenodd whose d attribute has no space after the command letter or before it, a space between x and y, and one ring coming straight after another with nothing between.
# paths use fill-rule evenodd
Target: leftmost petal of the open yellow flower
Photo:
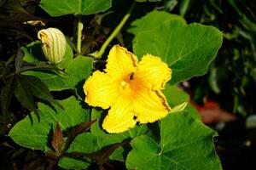
<instances>
[{"instance_id":1,"label":"leftmost petal of the open yellow flower","mask_svg":"<svg viewBox=\"0 0 256 170\"><path fill-rule=\"evenodd\" d=\"M101 71L95 71L84 83L85 102L88 105L108 109L119 96L117 82Z\"/></svg>"}]
</instances>

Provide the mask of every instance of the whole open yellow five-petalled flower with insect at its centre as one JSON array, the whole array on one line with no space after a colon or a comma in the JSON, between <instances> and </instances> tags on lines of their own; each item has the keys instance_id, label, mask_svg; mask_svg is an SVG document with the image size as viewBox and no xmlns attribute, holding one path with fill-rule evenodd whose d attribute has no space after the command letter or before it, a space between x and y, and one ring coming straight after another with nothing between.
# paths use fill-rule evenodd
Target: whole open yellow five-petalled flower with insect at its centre
<instances>
[{"instance_id":1,"label":"whole open yellow five-petalled flower with insect at its centre","mask_svg":"<svg viewBox=\"0 0 256 170\"><path fill-rule=\"evenodd\" d=\"M110 50L106 69L95 71L84 83L85 102L108 109L102 127L108 133L122 133L137 122L155 122L171 111L160 90L172 71L159 57L137 56L119 45Z\"/></svg>"}]
</instances>

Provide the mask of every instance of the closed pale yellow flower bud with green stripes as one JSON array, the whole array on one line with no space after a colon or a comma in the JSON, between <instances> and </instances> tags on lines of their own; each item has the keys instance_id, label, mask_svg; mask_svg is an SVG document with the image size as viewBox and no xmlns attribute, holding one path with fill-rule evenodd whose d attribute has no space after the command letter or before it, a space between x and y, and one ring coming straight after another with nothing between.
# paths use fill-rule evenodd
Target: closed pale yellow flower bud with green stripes
<instances>
[{"instance_id":1,"label":"closed pale yellow flower bud with green stripes","mask_svg":"<svg viewBox=\"0 0 256 170\"><path fill-rule=\"evenodd\" d=\"M42 49L50 63L60 63L66 51L66 37L56 28L38 31L38 39L42 42Z\"/></svg>"}]
</instances>

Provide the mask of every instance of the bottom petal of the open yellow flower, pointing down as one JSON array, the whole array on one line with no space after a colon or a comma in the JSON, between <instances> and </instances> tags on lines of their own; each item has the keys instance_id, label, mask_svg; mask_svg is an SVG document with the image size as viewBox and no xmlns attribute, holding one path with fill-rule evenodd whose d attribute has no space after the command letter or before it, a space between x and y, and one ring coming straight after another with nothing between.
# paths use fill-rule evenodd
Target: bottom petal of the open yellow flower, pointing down
<instances>
[{"instance_id":1,"label":"bottom petal of the open yellow flower, pointing down","mask_svg":"<svg viewBox=\"0 0 256 170\"><path fill-rule=\"evenodd\" d=\"M102 123L103 129L108 133L122 133L136 125L129 102L123 99L116 99L116 101Z\"/></svg>"}]
</instances>

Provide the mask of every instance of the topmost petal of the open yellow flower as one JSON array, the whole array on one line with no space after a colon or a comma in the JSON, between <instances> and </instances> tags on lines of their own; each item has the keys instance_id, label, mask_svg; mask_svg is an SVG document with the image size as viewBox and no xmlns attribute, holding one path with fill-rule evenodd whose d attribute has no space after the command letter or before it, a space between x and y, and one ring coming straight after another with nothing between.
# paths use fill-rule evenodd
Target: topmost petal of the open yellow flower
<instances>
[{"instance_id":1,"label":"topmost petal of the open yellow flower","mask_svg":"<svg viewBox=\"0 0 256 170\"><path fill-rule=\"evenodd\" d=\"M137 56L119 45L113 46L108 54L105 71L113 77L125 77L136 71Z\"/></svg>"}]
</instances>

